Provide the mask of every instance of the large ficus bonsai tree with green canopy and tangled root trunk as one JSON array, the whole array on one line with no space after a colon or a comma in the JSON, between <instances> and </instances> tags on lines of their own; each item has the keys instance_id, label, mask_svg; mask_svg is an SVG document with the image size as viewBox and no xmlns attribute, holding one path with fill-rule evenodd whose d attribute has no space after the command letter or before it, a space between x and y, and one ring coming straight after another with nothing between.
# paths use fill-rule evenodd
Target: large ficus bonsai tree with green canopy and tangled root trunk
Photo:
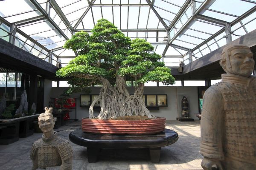
<instances>
[{"instance_id":1,"label":"large ficus bonsai tree with green canopy and tangled root trunk","mask_svg":"<svg viewBox=\"0 0 256 170\"><path fill-rule=\"evenodd\" d=\"M108 20L98 20L91 32L77 32L64 45L79 54L56 73L58 77L67 78L73 86L68 92L82 91L93 84L103 85L99 96L90 105L90 119L96 118L93 106L98 101L101 110L97 119L132 115L154 119L143 101L144 83L175 83L170 69L160 62L161 56L154 53L149 42L143 39L131 41ZM126 80L134 80L137 84L132 95L127 90Z\"/></svg>"}]
</instances>

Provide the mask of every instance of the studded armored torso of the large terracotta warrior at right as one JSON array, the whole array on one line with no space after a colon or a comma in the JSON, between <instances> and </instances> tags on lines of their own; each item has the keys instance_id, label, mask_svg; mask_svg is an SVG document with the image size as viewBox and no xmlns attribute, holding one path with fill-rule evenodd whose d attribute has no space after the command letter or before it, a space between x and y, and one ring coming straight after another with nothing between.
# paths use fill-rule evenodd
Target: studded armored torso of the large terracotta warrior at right
<instances>
[{"instance_id":1,"label":"studded armored torso of the large terracotta warrior at right","mask_svg":"<svg viewBox=\"0 0 256 170\"><path fill-rule=\"evenodd\" d=\"M256 161L256 86L222 83L224 98L224 153Z\"/></svg>"}]
</instances>

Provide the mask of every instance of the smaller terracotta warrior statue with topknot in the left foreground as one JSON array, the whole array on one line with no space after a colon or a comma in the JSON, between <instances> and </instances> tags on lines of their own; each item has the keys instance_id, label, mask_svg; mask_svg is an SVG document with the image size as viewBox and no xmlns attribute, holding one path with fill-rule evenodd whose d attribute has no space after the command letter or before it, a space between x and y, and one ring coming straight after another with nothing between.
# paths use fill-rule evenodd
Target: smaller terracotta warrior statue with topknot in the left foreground
<instances>
[{"instance_id":1,"label":"smaller terracotta warrior statue with topknot in the left foreground","mask_svg":"<svg viewBox=\"0 0 256 170\"><path fill-rule=\"evenodd\" d=\"M32 170L71 170L73 151L70 143L53 131L52 108L45 108L45 113L38 116L38 124L44 134L32 146Z\"/></svg>"}]
</instances>

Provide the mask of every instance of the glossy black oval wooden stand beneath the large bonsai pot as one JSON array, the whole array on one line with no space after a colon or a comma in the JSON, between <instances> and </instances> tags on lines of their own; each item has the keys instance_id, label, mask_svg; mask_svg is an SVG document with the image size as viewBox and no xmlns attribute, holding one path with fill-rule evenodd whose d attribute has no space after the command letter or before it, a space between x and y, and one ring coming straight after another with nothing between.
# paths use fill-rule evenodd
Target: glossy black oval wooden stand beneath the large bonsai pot
<instances>
[{"instance_id":1,"label":"glossy black oval wooden stand beneath the large bonsai pot","mask_svg":"<svg viewBox=\"0 0 256 170\"><path fill-rule=\"evenodd\" d=\"M158 163L161 147L175 143L178 138L178 134L170 129L151 135L101 135L86 133L79 129L69 135L71 142L87 147L88 162L97 161L101 148L149 148L151 161Z\"/></svg>"}]
</instances>

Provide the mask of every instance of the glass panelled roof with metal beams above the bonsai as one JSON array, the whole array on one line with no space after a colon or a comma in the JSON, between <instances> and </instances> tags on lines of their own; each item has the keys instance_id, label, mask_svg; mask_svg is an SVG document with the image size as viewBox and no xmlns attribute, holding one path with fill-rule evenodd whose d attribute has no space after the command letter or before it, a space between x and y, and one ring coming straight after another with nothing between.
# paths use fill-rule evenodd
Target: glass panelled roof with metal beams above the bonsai
<instances>
[{"instance_id":1,"label":"glass panelled roof with metal beams above the bonsai","mask_svg":"<svg viewBox=\"0 0 256 170\"><path fill-rule=\"evenodd\" d=\"M0 0L0 37L9 41L16 33L16 46L67 64L77 54L64 43L102 17L131 39L150 42L173 67L227 44L227 36L236 40L253 31L256 0Z\"/></svg>"}]
</instances>

